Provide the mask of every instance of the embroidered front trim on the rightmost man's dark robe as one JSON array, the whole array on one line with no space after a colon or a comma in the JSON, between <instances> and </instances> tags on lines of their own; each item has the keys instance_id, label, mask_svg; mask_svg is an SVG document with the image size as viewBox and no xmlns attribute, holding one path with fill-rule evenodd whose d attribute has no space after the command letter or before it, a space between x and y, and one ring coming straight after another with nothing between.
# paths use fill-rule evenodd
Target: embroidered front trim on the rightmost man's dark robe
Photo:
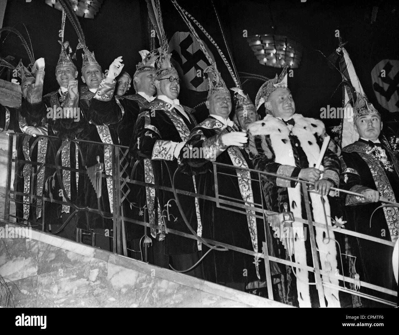
<instances>
[{"instance_id":1,"label":"embroidered front trim on the rightmost man's dark robe","mask_svg":"<svg viewBox=\"0 0 399 335\"><path fill-rule=\"evenodd\" d=\"M378 192L382 194L384 198L396 202L395 195L385 171L379 165L378 161L374 156L367 155L359 152L360 157L365 161L373 175L375 187ZM398 239L398 227L399 227L399 210L396 207L383 207L385 220L387 221L389 234L391 235L391 241L396 242Z\"/></svg>"}]
</instances>

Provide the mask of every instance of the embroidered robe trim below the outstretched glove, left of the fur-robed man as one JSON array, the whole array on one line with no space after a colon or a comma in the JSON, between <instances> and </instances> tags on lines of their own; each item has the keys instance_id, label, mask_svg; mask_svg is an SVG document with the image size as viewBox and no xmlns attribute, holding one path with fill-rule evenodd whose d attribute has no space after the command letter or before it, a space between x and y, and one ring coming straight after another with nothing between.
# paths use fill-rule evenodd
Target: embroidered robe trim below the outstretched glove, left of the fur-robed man
<instances>
[{"instance_id":1,"label":"embroidered robe trim below the outstretched glove, left of the fur-robed man","mask_svg":"<svg viewBox=\"0 0 399 335\"><path fill-rule=\"evenodd\" d=\"M229 153L231 162L235 167L248 168L247 162L245 161L244 157L241 155L241 152L237 147L230 146L227 148L227 152ZM238 186L240 189L241 197L245 201L245 206L254 207L250 172L247 170L237 169L236 173L238 179ZM249 235L251 236L253 251L258 252L258 229L256 226L255 211L252 210L245 210L245 211L247 212L248 229L249 229ZM259 257L255 257L254 263L256 267L256 274L258 278L261 279L261 276L259 274L259 262L260 262Z\"/></svg>"}]
</instances>

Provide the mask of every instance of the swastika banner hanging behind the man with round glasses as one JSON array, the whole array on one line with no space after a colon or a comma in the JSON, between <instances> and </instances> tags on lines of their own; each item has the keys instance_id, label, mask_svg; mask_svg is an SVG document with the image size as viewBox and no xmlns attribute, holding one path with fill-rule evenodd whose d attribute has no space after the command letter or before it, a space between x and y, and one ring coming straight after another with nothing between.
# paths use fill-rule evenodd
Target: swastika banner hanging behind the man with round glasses
<instances>
[{"instance_id":1,"label":"swastika banner hanging behind the man with round glasses","mask_svg":"<svg viewBox=\"0 0 399 335\"><path fill-rule=\"evenodd\" d=\"M203 71L207 68L209 62L192 35L176 31L170 39L169 51L172 52L172 59L175 61L174 66L182 76L184 85L190 90L206 91L207 83ZM214 59L208 48L207 51ZM178 63L177 66L176 63Z\"/></svg>"}]
</instances>

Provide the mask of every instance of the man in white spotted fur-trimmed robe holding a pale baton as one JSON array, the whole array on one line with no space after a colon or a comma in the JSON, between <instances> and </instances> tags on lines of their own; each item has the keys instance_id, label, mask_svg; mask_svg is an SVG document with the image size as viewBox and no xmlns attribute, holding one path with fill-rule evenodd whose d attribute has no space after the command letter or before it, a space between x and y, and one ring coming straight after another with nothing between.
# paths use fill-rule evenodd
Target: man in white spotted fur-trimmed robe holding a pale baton
<instances>
[{"instance_id":1,"label":"man in white spotted fur-trimmed robe holding a pale baton","mask_svg":"<svg viewBox=\"0 0 399 335\"><path fill-rule=\"evenodd\" d=\"M259 108L265 102L268 114L263 120L256 121L248 127L251 135L249 150L253 157L253 165L260 171L314 182L314 188L320 194L309 193L312 220L332 225L331 206L327 195L332 186L338 186L340 161L334 152L327 149L322 161L324 174L319 179L322 172L314 165L320 155L325 127L320 120L294 114L295 104L286 79L286 69L284 69L279 77L276 75L275 78L265 82L257 94L255 105ZM300 183L268 175L262 177L262 183L268 210L283 212L286 203L294 217L306 219ZM292 226L296 229L308 229L307 225L298 221L294 221ZM323 280L338 286L335 274L338 270L340 273L342 271L338 268L339 251L334 241L334 233L330 231L327 235L325 229L317 227L315 231L321 268L330 274L323 276ZM326 236L330 239L326 239ZM304 241L301 238L294 238L292 242L294 254L288 257L284 248L280 248L281 258L313 266L309 239ZM292 269L287 266L286 276L288 287L285 303L300 307L318 306L316 287L310 285L314 282L312 273L299 270L298 267ZM329 307L340 307L338 289L325 287L324 295Z\"/></svg>"}]
</instances>

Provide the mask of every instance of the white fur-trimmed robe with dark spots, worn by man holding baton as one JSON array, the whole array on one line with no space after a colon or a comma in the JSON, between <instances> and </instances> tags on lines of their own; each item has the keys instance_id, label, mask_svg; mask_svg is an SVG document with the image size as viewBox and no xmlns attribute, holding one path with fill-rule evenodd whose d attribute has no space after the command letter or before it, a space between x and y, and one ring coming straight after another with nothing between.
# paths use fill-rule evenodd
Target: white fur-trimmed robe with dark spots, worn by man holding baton
<instances>
[{"instance_id":1,"label":"white fur-trimmed robe with dark spots, worn by man holding baton","mask_svg":"<svg viewBox=\"0 0 399 335\"><path fill-rule=\"evenodd\" d=\"M297 178L302 168L314 167L320 154L320 147L325 135L325 127L322 121L312 118L305 118L300 114L294 114L295 125L285 125L283 121L267 114L263 120L256 121L249 126L250 155L253 157L255 169L264 172L272 172L280 176ZM327 149L324 159L323 179L333 182L334 186L339 184L340 161L338 156ZM320 167L322 169L322 167ZM303 201L302 188L300 183L264 176L263 192L267 207L274 212L282 212L286 202L293 212L294 217L306 219L306 208ZM318 223L326 223L323 204L320 195L309 193L312 209L312 220ZM323 197L326 209L327 223L331 225L330 204L327 196ZM294 221L293 227L299 229L308 225ZM332 274L336 273L339 259L338 248L334 241L334 233L330 231L330 241L323 243L323 235L326 230L315 228L316 244L319 250L321 269ZM289 259L287 257L287 259ZM312 264L310 241L294 239L294 255L292 261L309 266ZM288 296L286 303L299 305L300 307L318 306L318 297L314 282L314 275L306 270L287 267ZM342 272L340 272L342 273ZM323 281L338 286L338 279L323 276ZM296 286L296 290L295 290ZM339 291L334 288L324 287L328 307L340 307Z\"/></svg>"}]
</instances>

